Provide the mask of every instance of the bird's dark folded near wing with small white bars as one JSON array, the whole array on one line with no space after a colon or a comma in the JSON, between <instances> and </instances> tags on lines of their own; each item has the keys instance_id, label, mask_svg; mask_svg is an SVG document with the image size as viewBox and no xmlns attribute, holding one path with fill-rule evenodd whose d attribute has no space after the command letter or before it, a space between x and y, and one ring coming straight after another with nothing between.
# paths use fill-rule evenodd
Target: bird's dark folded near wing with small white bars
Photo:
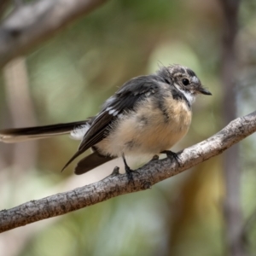
<instances>
[{"instance_id":1,"label":"bird's dark folded near wing with small white bars","mask_svg":"<svg viewBox=\"0 0 256 256\"><path fill-rule=\"evenodd\" d=\"M88 148L96 145L108 135L108 128L120 113L132 110L148 93L155 93L160 86L158 76L141 76L126 82L103 105L102 111L90 120L90 128L84 135L79 150L63 167L64 170L75 158L83 154Z\"/></svg>"}]
</instances>

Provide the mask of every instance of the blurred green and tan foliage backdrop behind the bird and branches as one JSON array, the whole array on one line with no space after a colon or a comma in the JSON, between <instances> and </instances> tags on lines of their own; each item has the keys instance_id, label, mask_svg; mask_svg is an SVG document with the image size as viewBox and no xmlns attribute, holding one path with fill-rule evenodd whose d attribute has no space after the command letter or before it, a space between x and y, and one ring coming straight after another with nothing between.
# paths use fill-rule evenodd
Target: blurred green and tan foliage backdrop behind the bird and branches
<instances>
[{"instance_id":1,"label":"blurred green and tan foliage backdrop behind the bird and branches","mask_svg":"<svg viewBox=\"0 0 256 256\"><path fill-rule=\"evenodd\" d=\"M242 1L237 38L237 115L255 110L255 1ZM180 63L195 71L212 97L193 106L188 135L174 150L212 136L224 125L220 83L222 10L218 1L112 0L42 42L3 71L1 129L85 119L127 79ZM19 88L15 88L18 79ZM79 142L56 137L1 144L1 208L67 191L106 177L113 161L83 176L60 172ZM256 137L240 145L245 246L256 254ZM0 254L225 255L222 157L152 189L0 235Z\"/></svg>"}]
</instances>

